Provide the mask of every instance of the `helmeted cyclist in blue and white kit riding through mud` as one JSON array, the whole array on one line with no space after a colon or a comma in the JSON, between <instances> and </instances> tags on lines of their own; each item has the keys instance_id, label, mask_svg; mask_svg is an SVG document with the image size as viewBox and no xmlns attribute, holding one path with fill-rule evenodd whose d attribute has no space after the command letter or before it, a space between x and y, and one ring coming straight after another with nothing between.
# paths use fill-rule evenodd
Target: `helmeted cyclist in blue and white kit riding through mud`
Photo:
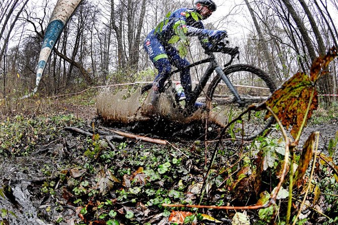
<instances>
[{"instance_id":1,"label":"helmeted cyclist in blue and white kit riding through mud","mask_svg":"<svg viewBox=\"0 0 338 225\"><path fill-rule=\"evenodd\" d=\"M159 93L163 91L165 80L168 78L171 72L171 66L181 69L181 83L184 88L182 94L186 96L186 105L190 105L192 86L190 70L184 69L189 66L190 63L181 58L178 50L173 44L168 43L174 35L181 29L181 32L187 36L197 36L201 42L202 47L208 50L212 47L209 40L219 41L227 36L226 31L221 30L207 30L204 29L200 18L196 21L192 16L186 17L188 13L199 13L202 20L207 19L215 10L217 6L213 0L196 0L194 3L194 9L181 8L168 17L168 22L163 26L161 30L153 29L146 37L144 42L144 48L147 51L150 60L153 62L154 67L158 70L158 75L155 77L152 85L152 99L151 104L154 106L157 103ZM184 99L184 96L179 96ZM201 107L204 104L195 102L194 106Z\"/></svg>"}]
</instances>

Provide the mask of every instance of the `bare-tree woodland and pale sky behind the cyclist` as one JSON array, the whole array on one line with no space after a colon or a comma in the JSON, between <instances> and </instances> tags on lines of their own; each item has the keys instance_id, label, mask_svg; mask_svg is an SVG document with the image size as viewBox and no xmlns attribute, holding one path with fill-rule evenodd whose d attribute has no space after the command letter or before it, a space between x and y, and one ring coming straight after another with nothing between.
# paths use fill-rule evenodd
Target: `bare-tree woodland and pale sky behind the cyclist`
<instances>
[{"instance_id":1,"label":"bare-tree woodland and pale sky behind the cyclist","mask_svg":"<svg viewBox=\"0 0 338 225\"><path fill-rule=\"evenodd\" d=\"M262 68L277 84L297 72L307 73L318 55L337 46L337 0L216 3L219 11L204 21L205 27L227 30L230 46L240 46L241 62ZM54 5L51 0L0 3L0 98L22 96L34 88ZM154 71L142 46L144 37L167 12L191 6L192 1L176 0L84 1L52 51L39 93L51 96L94 85L151 81ZM189 60L205 57L195 39L190 51ZM319 90L337 94L336 61L329 71ZM194 79L195 74L192 71Z\"/></svg>"}]
</instances>

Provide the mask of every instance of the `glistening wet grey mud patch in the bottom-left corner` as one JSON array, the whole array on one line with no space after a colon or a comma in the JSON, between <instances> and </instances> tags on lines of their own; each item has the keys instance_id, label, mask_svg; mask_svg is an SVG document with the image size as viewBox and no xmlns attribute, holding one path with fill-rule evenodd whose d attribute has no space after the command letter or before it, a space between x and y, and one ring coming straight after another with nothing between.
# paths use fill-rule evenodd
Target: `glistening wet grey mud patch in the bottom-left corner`
<instances>
[{"instance_id":1,"label":"glistening wet grey mud patch in the bottom-left corner","mask_svg":"<svg viewBox=\"0 0 338 225\"><path fill-rule=\"evenodd\" d=\"M75 209L63 207L49 194L41 192L45 181L59 177L57 160L65 160L60 150L62 144L40 148L31 156L0 158L0 222L1 224L56 224L59 216L71 219ZM58 155L55 154L59 154ZM54 155L52 155L54 154ZM66 159L67 160L67 159ZM60 163L60 162L59 162ZM48 174L45 171L49 171ZM55 171L55 174L50 171ZM62 208L62 215L60 210ZM60 224L74 224L60 223Z\"/></svg>"}]
</instances>

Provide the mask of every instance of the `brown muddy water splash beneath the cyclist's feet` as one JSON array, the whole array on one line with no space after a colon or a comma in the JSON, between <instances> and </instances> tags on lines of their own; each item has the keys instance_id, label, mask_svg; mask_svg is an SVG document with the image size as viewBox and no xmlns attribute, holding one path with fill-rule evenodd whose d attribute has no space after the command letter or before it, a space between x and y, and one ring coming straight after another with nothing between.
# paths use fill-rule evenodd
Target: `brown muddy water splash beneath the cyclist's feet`
<instances>
[{"instance_id":1,"label":"brown muddy water splash beneath the cyclist's feet","mask_svg":"<svg viewBox=\"0 0 338 225\"><path fill-rule=\"evenodd\" d=\"M149 106L150 99L150 94L141 95L140 89L116 93L104 89L97 97L97 114L105 125L161 137L185 134L193 138L202 135L206 126L210 132L227 123L226 117L200 109L189 117L184 116L182 105L177 104L170 89L160 95L155 110Z\"/></svg>"}]
</instances>

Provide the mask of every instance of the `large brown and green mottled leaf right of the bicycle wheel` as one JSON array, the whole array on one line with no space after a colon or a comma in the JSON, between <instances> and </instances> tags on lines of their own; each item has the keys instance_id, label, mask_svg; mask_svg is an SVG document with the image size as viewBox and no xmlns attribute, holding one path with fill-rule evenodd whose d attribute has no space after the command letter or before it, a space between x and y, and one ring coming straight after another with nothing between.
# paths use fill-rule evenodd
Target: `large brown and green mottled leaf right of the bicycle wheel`
<instances>
[{"instance_id":1,"label":"large brown and green mottled leaf right of the bicycle wheel","mask_svg":"<svg viewBox=\"0 0 338 225\"><path fill-rule=\"evenodd\" d=\"M312 103L307 120L318 106L317 91L310 78L304 73L297 73L272 93L265 104L277 115L281 123L288 129L292 126L291 135L296 138L313 92ZM271 117L268 111L265 119ZM306 125L306 123L305 123Z\"/></svg>"}]
</instances>

